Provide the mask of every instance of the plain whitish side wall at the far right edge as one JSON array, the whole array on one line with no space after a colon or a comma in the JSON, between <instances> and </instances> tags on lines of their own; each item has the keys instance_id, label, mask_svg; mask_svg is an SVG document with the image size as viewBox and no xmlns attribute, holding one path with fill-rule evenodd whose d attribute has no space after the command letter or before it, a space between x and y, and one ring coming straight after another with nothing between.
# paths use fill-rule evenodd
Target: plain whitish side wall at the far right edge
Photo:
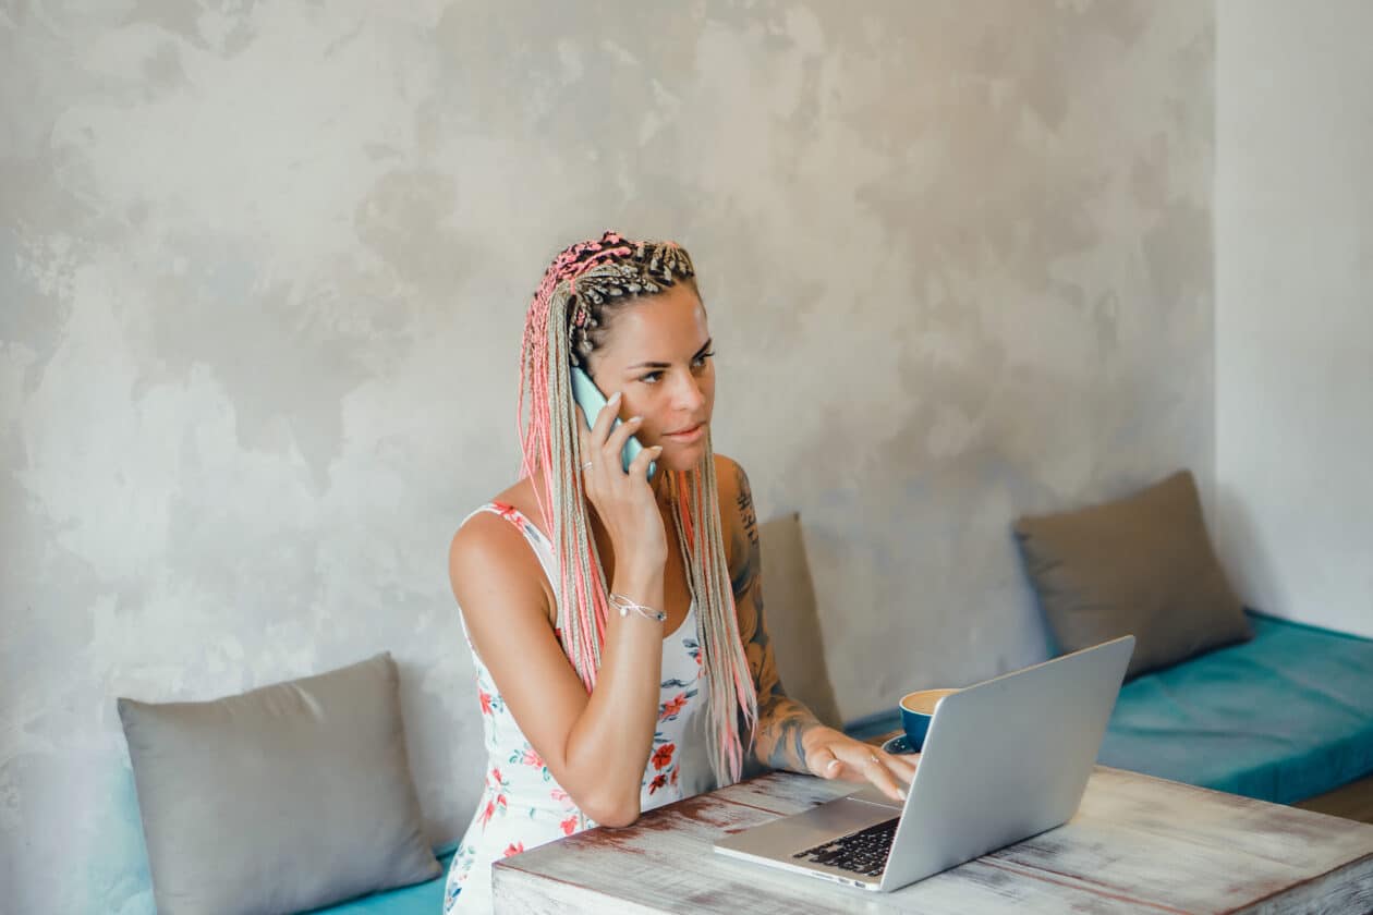
<instances>
[{"instance_id":1,"label":"plain whitish side wall at the far right edge","mask_svg":"<svg viewBox=\"0 0 1373 915\"><path fill-rule=\"evenodd\" d=\"M1315 8L1216 5L1215 531L1254 606L1373 638L1373 4Z\"/></svg>"}]
</instances>

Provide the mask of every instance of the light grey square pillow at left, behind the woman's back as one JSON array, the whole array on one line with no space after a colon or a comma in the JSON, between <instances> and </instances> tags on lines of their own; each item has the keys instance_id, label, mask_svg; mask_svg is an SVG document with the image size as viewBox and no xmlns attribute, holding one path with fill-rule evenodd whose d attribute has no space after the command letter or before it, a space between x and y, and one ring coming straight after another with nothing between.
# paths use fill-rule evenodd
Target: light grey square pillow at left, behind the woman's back
<instances>
[{"instance_id":1,"label":"light grey square pillow at left, behind the woman's back","mask_svg":"<svg viewBox=\"0 0 1373 915\"><path fill-rule=\"evenodd\" d=\"M161 915L295 912L437 877L395 663L213 702L118 700Z\"/></svg>"}]
</instances>

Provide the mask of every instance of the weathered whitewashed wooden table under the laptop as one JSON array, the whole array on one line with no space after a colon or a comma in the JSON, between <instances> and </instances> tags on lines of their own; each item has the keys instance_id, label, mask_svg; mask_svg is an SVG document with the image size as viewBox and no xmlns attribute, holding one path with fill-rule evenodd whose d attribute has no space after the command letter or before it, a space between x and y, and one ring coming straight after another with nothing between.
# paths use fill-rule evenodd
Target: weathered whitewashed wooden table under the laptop
<instances>
[{"instance_id":1,"label":"weathered whitewashed wooden table under the laptop","mask_svg":"<svg viewBox=\"0 0 1373 915\"><path fill-rule=\"evenodd\" d=\"M1064 826L895 893L711 851L855 790L774 772L496 864L497 912L1369 912L1373 826L1098 765Z\"/></svg>"}]
</instances>

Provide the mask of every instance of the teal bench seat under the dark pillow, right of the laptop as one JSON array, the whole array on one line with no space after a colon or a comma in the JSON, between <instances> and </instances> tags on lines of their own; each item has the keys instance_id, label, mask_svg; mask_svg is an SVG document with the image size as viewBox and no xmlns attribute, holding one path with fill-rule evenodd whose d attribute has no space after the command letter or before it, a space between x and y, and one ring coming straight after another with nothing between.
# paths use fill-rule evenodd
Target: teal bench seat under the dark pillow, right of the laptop
<instances>
[{"instance_id":1,"label":"teal bench seat under the dark pillow, right of the laptop","mask_svg":"<svg viewBox=\"0 0 1373 915\"><path fill-rule=\"evenodd\" d=\"M1373 641L1249 620L1252 641L1126 683L1097 760L1278 804L1373 772Z\"/></svg>"}]
</instances>

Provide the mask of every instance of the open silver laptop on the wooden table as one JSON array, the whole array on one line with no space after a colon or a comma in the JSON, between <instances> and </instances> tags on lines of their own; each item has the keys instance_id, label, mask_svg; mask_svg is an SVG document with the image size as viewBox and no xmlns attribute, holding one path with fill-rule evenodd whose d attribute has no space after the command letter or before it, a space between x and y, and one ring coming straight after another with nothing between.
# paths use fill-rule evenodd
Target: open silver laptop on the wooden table
<instances>
[{"instance_id":1,"label":"open silver laptop on the wooden table","mask_svg":"<svg viewBox=\"0 0 1373 915\"><path fill-rule=\"evenodd\" d=\"M1134 637L946 696L902 805L875 787L715 841L715 851L891 892L1076 812Z\"/></svg>"}]
</instances>

